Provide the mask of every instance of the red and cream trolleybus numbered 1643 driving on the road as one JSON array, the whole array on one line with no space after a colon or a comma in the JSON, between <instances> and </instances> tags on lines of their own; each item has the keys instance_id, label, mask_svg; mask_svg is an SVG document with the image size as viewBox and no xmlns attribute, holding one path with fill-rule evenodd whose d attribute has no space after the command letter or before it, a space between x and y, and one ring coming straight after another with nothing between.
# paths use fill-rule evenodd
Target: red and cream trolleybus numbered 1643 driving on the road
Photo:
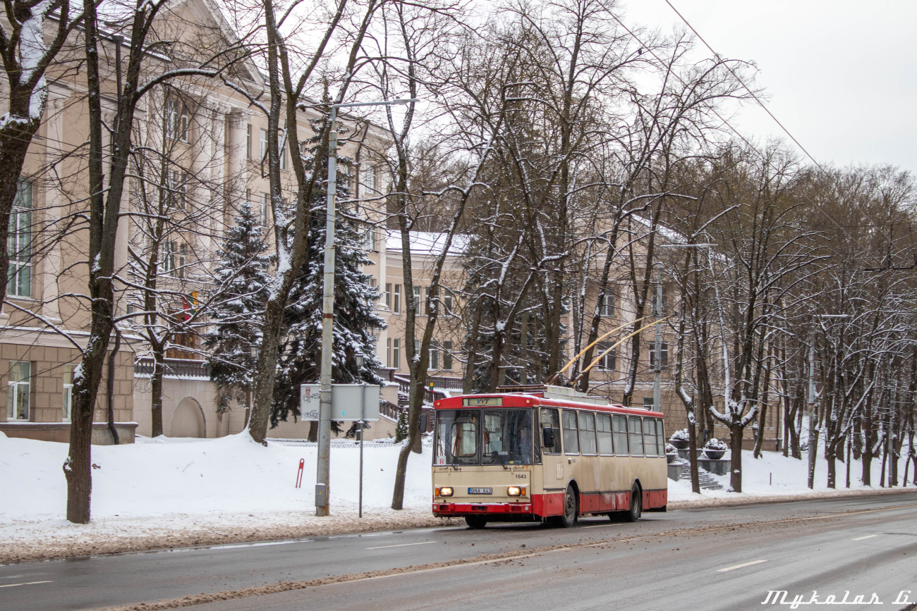
<instances>
[{"instance_id":1,"label":"red and cream trolleybus numbered 1643 driving on the road","mask_svg":"<svg viewBox=\"0 0 917 611\"><path fill-rule=\"evenodd\" d=\"M433 513L487 522L665 511L662 414L566 387L437 399Z\"/></svg>"}]
</instances>

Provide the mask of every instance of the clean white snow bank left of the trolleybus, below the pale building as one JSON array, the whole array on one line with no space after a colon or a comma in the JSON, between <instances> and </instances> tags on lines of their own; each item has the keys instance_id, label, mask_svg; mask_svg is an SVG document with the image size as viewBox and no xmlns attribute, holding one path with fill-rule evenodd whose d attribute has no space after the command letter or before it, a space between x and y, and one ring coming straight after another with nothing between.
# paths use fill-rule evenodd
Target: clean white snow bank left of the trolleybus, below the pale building
<instances>
[{"instance_id":1,"label":"clean white snow bank left of the trolleybus, below the pale building","mask_svg":"<svg viewBox=\"0 0 917 611\"><path fill-rule=\"evenodd\" d=\"M363 505L389 507L400 445L364 449ZM220 439L147 440L93 446L93 518L154 518L227 513L313 511L315 446L269 442L247 434ZM404 506L430 502L430 448L408 462ZM65 517L67 490L61 465L67 444L0 438L0 524ZM295 487L300 459L303 486ZM359 449L334 443L332 507L356 507Z\"/></svg>"}]
</instances>

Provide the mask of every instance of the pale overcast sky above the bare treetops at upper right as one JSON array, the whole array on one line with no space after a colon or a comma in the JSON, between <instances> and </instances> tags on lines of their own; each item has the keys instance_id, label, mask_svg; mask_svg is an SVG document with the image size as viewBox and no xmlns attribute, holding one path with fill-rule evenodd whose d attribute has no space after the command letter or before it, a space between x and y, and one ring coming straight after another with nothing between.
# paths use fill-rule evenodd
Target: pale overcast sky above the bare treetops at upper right
<instances>
[{"instance_id":1,"label":"pale overcast sky above the bare treetops at upper right","mask_svg":"<svg viewBox=\"0 0 917 611\"><path fill-rule=\"evenodd\" d=\"M765 104L814 158L917 170L917 2L670 1L721 56L757 63ZM665 0L621 5L625 23L681 24ZM757 104L735 124L759 141L781 134Z\"/></svg>"}]
</instances>

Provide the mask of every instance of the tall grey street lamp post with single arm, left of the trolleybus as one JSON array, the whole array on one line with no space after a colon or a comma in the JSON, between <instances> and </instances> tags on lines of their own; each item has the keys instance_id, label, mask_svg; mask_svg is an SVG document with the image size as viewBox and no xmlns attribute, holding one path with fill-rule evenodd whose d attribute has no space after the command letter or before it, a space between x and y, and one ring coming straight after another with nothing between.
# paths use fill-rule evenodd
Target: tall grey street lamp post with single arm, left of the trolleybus
<instances>
[{"instance_id":1,"label":"tall grey street lamp post with single arm, left of the trolleybus","mask_svg":"<svg viewBox=\"0 0 917 611\"><path fill-rule=\"evenodd\" d=\"M331 104L331 125L328 133L328 191L325 224L325 268L322 290L322 366L319 380L318 407L318 469L315 474L315 515L328 515L331 458L331 342L335 320L335 196L337 195L337 109L355 106L391 106L410 104L416 99L383 100Z\"/></svg>"}]
</instances>

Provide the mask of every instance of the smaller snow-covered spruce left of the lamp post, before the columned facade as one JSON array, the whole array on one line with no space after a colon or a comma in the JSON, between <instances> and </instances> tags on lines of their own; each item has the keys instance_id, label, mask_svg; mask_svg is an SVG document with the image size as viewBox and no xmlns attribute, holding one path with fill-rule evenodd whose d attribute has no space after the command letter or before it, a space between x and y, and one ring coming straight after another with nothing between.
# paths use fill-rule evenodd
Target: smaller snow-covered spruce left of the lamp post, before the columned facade
<instances>
[{"instance_id":1,"label":"smaller snow-covered spruce left of the lamp post, before the columned facade","mask_svg":"<svg viewBox=\"0 0 917 611\"><path fill-rule=\"evenodd\" d=\"M219 389L219 411L229 409L234 398L246 402L251 390L251 346L261 343L260 320L273 259L249 202L242 204L234 220L216 255L214 325L204 336L204 348L210 351L210 379Z\"/></svg>"}]
</instances>

